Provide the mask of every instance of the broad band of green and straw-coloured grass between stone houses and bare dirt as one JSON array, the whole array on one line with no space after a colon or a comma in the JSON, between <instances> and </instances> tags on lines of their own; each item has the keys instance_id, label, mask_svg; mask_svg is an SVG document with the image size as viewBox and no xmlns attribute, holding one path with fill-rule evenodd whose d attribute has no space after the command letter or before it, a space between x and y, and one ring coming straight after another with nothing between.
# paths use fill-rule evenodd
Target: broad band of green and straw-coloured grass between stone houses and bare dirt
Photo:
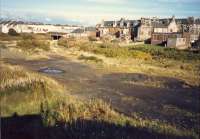
<instances>
[{"instance_id":1,"label":"broad band of green and straw-coloured grass between stone houses and bare dirt","mask_svg":"<svg viewBox=\"0 0 200 139\"><path fill-rule=\"evenodd\" d=\"M130 72L172 77L183 80L191 86L200 86L200 78L197 76L200 74L200 53L198 52L153 45L119 47L114 43L94 42L82 42L76 46L81 51L117 59L121 67L119 70L125 68Z\"/></svg>"}]
</instances>

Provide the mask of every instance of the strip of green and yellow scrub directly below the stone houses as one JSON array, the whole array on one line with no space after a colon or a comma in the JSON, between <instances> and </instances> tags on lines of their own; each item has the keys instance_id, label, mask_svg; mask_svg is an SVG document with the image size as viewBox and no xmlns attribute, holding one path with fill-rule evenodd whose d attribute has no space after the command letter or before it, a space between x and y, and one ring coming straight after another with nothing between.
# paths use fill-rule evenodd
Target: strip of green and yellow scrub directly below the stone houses
<instances>
[{"instance_id":1,"label":"strip of green and yellow scrub directly below the stone houses","mask_svg":"<svg viewBox=\"0 0 200 139\"><path fill-rule=\"evenodd\" d=\"M145 60L200 60L200 53L194 53L188 50L180 51L176 50L175 48L164 48L154 45L137 45L122 48L114 43L84 43L78 45L78 47L80 50L90 51L96 54L103 54L106 57L137 58Z\"/></svg>"}]
</instances>

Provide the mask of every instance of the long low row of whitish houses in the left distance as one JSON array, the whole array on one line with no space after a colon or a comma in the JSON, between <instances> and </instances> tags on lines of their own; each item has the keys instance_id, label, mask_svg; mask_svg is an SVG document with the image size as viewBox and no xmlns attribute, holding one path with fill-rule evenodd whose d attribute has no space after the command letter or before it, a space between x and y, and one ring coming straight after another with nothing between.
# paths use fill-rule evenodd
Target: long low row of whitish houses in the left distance
<instances>
[{"instance_id":1,"label":"long low row of whitish houses in the left distance","mask_svg":"<svg viewBox=\"0 0 200 139\"><path fill-rule=\"evenodd\" d=\"M95 27L0 20L1 33L8 33L10 29L14 29L17 33L50 33L53 39L96 36Z\"/></svg>"}]
</instances>

